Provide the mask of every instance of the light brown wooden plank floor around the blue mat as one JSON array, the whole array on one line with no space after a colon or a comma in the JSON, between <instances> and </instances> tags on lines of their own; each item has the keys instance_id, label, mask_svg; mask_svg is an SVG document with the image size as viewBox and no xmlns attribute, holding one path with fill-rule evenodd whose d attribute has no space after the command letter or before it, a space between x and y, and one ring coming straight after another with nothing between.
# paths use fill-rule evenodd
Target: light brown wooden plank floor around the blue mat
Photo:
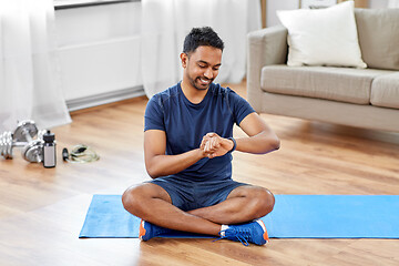
<instances>
[{"instance_id":1,"label":"light brown wooden plank floor around the blue mat","mask_svg":"<svg viewBox=\"0 0 399 266\"><path fill-rule=\"evenodd\" d=\"M245 85L232 85L245 96ZM93 194L122 194L149 180L146 99L80 111L54 129L58 165L0 158L0 265L399 265L395 239L272 239L267 246L209 239L79 239ZM275 194L399 194L399 134L262 114L282 140L267 155L234 154L235 180ZM243 132L237 127L235 135ZM84 143L101 156L63 163ZM397 212L398 209L392 209Z\"/></svg>"}]
</instances>

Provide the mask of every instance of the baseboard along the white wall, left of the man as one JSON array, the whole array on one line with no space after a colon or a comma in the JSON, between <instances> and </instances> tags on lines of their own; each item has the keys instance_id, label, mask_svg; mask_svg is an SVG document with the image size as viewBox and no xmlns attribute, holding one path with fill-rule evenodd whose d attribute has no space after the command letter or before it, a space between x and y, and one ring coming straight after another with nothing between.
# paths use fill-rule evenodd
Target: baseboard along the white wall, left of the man
<instances>
[{"instance_id":1,"label":"baseboard along the white wall, left of the man","mask_svg":"<svg viewBox=\"0 0 399 266\"><path fill-rule=\"evenodd\" d=\"M142 85L66 101L70 112L145 95Z\"/></svg>"}]
</instances>

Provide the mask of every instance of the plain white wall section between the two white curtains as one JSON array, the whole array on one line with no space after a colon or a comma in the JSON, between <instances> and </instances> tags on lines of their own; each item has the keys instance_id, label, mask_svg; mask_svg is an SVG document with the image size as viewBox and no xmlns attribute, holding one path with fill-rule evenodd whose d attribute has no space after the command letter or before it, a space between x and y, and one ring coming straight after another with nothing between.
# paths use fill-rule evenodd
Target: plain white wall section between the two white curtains
<instances>
[{"instance_id":1,"label":"plain white wall section between the two white curtains","mask_svg":"<svg viewBox=\"0 0 399 266\"><path fill-rule=\"evenodd\" d=\"M140 2L55 11L66 103L84 100L96 105L111 100L90 104L90 99L142 89L140 22Z\"/></svg>"}]
</instances>

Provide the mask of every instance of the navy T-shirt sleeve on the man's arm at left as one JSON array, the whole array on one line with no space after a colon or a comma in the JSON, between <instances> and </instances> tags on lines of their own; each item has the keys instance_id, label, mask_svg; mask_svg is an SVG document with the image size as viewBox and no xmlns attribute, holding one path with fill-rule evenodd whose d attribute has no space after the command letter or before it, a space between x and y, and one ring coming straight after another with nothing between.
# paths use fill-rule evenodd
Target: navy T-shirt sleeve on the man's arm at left
<instances>
[{"instance_id":1,"label":"navy T-shirt sleeve on the man's arm at left","mask_svg":"<svg viewBox=\"0 0 399 266\"><path fill-rule=\"evenodd\" d=\"M161 98L154 95L150 99L144 114L144 131L162 130L165 131L164 111L161 105Z\"/></svg>"}]
</instances>

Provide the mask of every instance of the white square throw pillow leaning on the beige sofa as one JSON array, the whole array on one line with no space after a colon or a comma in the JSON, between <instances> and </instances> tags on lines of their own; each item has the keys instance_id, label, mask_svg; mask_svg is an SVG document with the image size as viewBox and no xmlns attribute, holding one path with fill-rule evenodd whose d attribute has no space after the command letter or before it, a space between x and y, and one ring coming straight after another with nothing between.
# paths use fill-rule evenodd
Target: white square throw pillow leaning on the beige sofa
<instances>
[{"instance_id":1,"label":"white square throw pillow leaning on the beige sofa","mask_svg":"<svg viewBox=\"0 0 399 266\"><path fill-rule=\"evenodd\" d=\"M361 60L352 1L326 9L277 11L277 16L288 29L288 65L367 66Z\"/></svg>"}]
</instances>

